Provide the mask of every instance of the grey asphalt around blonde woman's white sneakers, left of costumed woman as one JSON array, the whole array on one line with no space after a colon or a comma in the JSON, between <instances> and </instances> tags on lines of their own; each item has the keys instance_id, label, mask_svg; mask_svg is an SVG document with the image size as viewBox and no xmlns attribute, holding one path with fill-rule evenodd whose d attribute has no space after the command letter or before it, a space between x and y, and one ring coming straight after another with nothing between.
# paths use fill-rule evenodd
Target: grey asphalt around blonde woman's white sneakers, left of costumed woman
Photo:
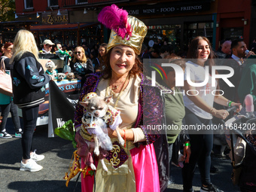
<instances>
[{"instance_id":1,"label":"grey asphalt around blonde woman's white sneakers, left of costumed woman","mask_svg":"<svg viewBox=\"0 0 256 192\"><path fill-rule=\"evenodd\" d=\"M11 118L8 118L8 121ZM12 122L11 122L12 123ZM14 130L8 127L8 133L14 136ZM71 142L59 137L47 138L47 127L40 126L34 133L33 149L44 154L44 160L38 162L44 167L39 172L20 171L22 157L21 139L0 139L0 191L50 192L73 191L75 178L66 187L63 179L69 169L72 153L75 149ZM75 191L81 191L81 181Z\"/></svg>"}]
</instances>

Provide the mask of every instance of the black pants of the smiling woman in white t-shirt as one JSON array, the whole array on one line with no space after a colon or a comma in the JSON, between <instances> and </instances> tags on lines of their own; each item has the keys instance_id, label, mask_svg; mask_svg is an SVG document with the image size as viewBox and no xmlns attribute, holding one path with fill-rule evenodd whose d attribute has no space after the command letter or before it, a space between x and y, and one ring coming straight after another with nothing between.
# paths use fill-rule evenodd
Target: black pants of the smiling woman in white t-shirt
<instances>
[{"instance_id":1,"label":"black pants of the smiling woman in white t-shirt","mask_svg":"<svg viewBox=\"0 0 256 192\"><path fill-rule=\"evenodd\" d=\"M203 119L192 113L186 108L185 122L187 125L211 125L212 120ZM207 130L204 134L189 134L191 144L191 156L189 163L184 163L182 168L183 190L192 191L193 177L196 164L200 169L202 184L210 184L211 151L213 145L212 130Z\"/></svg>"}]
</instances>

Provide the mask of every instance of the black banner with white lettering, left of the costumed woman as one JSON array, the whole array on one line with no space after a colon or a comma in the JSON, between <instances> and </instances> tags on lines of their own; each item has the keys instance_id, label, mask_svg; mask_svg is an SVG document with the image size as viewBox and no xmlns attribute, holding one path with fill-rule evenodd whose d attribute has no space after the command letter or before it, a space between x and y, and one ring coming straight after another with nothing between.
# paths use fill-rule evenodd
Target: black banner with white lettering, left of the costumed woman
<instances>
[{"instance_id":1,"label":"black banner with white lettering, left of the costumed woman","mask_svg":"<svg viewBox=\"0 0 256 192\"><path fill-rule=\"evenodd\" d=\"M70 81L69 81L70 82ZM62 126L66 121L74 119L75 105L78 103L79 93L76 88L79 84L57 85L56 82L49 82L49 117L48 117L48 137L54 137L54 129ZM72 90L68 92L68 90ZM75 92L74 92L75 91Z\"/></svg>"}]
</instances>

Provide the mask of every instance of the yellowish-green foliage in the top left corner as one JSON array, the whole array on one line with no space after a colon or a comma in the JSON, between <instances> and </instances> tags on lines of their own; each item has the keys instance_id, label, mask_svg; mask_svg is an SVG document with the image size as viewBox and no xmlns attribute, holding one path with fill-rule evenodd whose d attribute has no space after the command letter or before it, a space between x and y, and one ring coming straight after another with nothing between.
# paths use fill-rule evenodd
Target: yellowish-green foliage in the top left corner
<instances>
[{"instance_id":1,"label":"yellowish-green foliage in the top left corner","mask_svg":"<svg viewBox=\"0 0 256 192\"><path fill-rule=\"evenodd\" d=\"M1 0L0 2L0 21L14 20L15 0Z\"/></svg>"}]
</instances>

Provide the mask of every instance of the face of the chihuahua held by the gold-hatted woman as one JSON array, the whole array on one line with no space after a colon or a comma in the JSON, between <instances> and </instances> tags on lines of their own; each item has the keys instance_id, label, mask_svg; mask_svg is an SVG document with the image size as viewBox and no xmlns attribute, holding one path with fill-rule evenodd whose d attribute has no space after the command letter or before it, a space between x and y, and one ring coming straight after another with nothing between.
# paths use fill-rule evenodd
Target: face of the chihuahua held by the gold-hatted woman
<instances>
[{"instance_id":1,"label":"face of the chihuahua held by the gold-hatted woman","mask_svg":"<svg viewBox=\"0 0 256 192\"><path fill-rule=\"evenodd\" d=\"M94 96L88 99L86 102L79 102L87 112L93 115L93 117L104 117L108 111L108 103L111 101L112 96L103 99L100 96Z\"/></svg>"}]
</instances>

